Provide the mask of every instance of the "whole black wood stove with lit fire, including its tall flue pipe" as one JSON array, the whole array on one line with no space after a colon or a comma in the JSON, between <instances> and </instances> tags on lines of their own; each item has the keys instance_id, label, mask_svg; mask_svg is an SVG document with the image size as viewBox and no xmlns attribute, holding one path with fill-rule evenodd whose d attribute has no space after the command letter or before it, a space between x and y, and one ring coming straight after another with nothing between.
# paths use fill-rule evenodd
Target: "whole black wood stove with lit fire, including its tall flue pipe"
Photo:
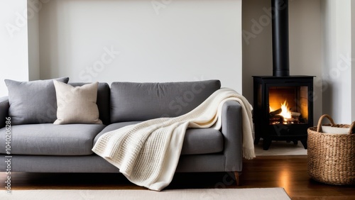
<instances>
[{"instance_id":1,"label":"whole black wood stove with lit fire, including its tall flue pipe","mask_svg":"<svg viewBox=\"0 0 355 200\"><path fill-rule=\"evenodd\" d=\"M271 0L273 7L273 76L253 76L255 144L263 149L272 140L286 140L307 149L307 128L313 126L313 77L290 76L288 1Z\"/></svg>"}]
</instances>

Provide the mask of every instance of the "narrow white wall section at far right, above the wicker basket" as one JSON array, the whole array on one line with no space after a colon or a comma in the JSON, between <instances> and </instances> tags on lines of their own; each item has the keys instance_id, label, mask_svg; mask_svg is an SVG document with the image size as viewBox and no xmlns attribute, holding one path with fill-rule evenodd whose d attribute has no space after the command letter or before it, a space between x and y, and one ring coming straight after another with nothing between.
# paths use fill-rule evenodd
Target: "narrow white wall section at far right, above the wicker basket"
<instances>
[{"instance_id":1,"label":"narrow white wall section at far right, above the wicker basket","mask_svg":"<svg viewBox=\"0 0 355 200\"><path fill-rule=\"evenodd\" d=\"M351 0L322 1L323 112L336 123L350 123L351 111Z\"/></svg>"}]
</instances>

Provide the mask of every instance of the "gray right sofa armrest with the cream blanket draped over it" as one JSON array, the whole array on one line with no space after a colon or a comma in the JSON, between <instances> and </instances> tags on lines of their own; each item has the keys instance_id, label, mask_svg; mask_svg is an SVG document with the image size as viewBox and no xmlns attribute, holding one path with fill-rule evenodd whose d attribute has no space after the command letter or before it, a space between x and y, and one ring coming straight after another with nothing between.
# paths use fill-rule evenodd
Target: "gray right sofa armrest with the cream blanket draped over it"
<instances>
[{"instance_id":1,"label":"gray right sofa armrest with the cream blanket draped over it","mask_svg":"<svg viewBox=\"0 0 355 200\"><path fill-rule=\"evenodd\" d=\"M243 164L241 104L226 101L222 106L222 134L226 172L241 172Z\"/></svg>"}]
</instances>

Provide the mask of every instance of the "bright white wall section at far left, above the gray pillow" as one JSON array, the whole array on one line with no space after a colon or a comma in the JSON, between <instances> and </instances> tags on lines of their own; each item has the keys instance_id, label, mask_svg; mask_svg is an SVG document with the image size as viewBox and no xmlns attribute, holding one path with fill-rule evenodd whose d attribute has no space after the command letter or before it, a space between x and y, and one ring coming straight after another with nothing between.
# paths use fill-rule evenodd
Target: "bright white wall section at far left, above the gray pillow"
<instances>
[{"instance_id":1,"label":"bright white wall section at far left, above the gray pillow","mask_svg":"<svg viewBox=\"0 0 355 200\"><path fill-rule=\"evenodd\" d=\"M0 96L7 96L4 79L28 80L27 0L0 5Z\"/></svg>"}]
</instances>

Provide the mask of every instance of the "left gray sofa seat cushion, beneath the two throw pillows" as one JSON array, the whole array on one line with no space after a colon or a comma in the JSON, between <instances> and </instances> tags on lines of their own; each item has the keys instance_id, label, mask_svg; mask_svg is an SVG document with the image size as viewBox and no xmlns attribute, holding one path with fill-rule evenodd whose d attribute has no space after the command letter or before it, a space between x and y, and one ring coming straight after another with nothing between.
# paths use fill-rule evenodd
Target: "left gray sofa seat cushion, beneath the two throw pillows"
<instances>
[{"instance_id":1,"label":"left gray sofa seat cushion, beneath the two throw pillows","mask_svg":"<svg viewBox=\"0 0 355 200\"><path fill-rule=\"evenodd\" d=\"M104 128L102 124L11 126L11 154L91 155L94 138ZM0 144L5 144L5 128L0 129L0 135ZM0 148L0 153L6 153L6 149Z\"/></svg>"}]
</instances>

